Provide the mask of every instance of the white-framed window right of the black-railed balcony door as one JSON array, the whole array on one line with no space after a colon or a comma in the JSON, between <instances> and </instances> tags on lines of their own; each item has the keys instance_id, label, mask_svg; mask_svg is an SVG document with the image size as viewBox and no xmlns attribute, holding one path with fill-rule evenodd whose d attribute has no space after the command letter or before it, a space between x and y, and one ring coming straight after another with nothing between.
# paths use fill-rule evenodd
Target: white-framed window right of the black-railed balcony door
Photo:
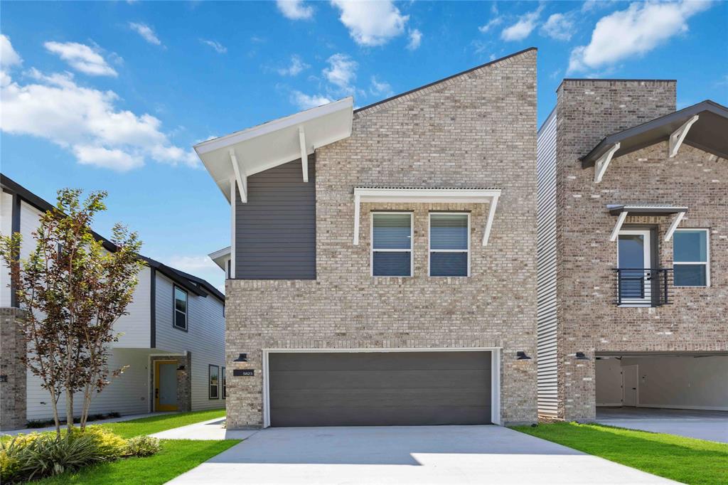
<instances>
[{"instance_id":1,"label":"white-framed window right of the black-railed balcony door","mask_svg":"<svg viewBox=\"0 0 728 485\"><path fill-rule=\"evenodd\" d=\"M708 229L676 229L673 272L676 286L710 286Z\"/></svg>"}]
</instances>

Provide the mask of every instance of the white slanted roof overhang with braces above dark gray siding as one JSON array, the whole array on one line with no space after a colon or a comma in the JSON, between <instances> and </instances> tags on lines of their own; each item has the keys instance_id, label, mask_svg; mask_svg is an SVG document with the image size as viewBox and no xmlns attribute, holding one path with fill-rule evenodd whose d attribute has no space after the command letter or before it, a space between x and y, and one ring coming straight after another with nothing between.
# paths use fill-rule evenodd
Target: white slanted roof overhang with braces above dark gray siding
<instances>
[{"instance_id":1,"label":"white slanted roof overhang with braces above dark gray siding","mask_svg":"<svg viewBox=\"0 0 728 485\"><path fill-rule=\"evenodd\" d=\"M353 108L354 99L344 98L203 141L194 151L228 201L237 182L237 192L247 202L248 176L269 168L301 159L301 177L308 181L308 156L351 136Z\"/></svg>"}]
</instances>

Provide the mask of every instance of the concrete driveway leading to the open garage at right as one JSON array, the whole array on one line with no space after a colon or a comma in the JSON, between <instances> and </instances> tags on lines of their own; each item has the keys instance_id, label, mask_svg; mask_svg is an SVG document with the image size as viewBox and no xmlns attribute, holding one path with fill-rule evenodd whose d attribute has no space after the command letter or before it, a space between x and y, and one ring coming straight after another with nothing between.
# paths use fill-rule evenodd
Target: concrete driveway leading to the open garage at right
<instances>
[{"instance_id":1,"label":"concrete driveway leading to the open garage at right","mask_svg":"<svg viewBox=\"0 0 728 485\"><path fill-rule=\"evenodd\" d=\"M598 408L596 421L602 425L728 443L728 411Z\"/></svg>"}]
</instances>

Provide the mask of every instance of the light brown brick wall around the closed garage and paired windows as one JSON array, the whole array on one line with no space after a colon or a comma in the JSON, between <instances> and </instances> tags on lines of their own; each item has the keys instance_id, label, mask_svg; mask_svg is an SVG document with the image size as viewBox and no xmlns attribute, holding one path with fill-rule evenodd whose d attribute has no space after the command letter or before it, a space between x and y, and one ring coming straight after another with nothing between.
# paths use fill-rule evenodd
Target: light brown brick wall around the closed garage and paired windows
<instances>
[{"instance_id":1,"label":"light brown brick wall around the closed garage and paired windows","mask_svg":"<svg viewBox=\"0 0 728 485\"><path fill-rule=\"evenodd\" d=\"M536 419L536 52L355 114L316 154L317 280L226 283L230 427L262 423L264 348L503 347L502 419ZM370 205L352 244L357 185L502 188L487 205ZM370 276L370 212L414 210L414 277ZM427 277L428 210L471 210L471 273ZM248 363L235 363L248 352ZM253 368L255 377L233 377Z\"/></svg>"}]
</instances>

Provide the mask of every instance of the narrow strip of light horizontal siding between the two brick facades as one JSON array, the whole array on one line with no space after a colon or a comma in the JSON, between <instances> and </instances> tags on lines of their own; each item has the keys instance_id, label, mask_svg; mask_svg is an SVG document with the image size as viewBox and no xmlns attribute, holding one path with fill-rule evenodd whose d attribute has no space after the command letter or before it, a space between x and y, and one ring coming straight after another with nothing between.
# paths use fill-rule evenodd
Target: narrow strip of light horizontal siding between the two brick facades
<instances>
[{"instance_id":1,"label":"narrow strip of light horizontal siding between the two brick facades","mask_svg":"<svg viewBox=\"0 0 728 485\"><path fill-rule=\"evenodd\" d=\"M538 403L539 414L558 411L556 361L556 110L539 130L538 171Z\"/></svg>"}]
</instances>

